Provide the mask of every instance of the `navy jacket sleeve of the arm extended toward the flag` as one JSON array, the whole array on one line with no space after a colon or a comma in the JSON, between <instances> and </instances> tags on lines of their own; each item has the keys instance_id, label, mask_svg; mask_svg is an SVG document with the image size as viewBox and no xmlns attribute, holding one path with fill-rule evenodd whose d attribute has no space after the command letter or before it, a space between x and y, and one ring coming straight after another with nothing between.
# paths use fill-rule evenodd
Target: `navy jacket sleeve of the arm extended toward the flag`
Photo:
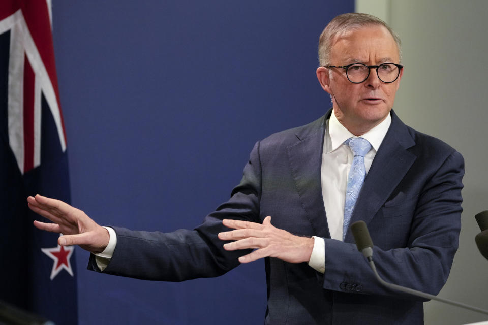
<instances>
[{"instance_id":1,"label":"navy jacket sleeve of the arm extended toward the flag","mask_svg":"<svg viewBox=\"0 0 488 325\"><path fill-rule=\"evenodd\" d=\"M161 281L184 281L215 277L239 265L238 257L250 250L226 251L225 241L217 235L229 231L222 220L239 219L260 222L260 166L256 144L243 171L243 177L226 203L205 217L194 230L179 229L171 233L132 231L112 227L117 245L103 273ZM101 272L91 255L88 269Z\"/></svg>"}]
</instances>

